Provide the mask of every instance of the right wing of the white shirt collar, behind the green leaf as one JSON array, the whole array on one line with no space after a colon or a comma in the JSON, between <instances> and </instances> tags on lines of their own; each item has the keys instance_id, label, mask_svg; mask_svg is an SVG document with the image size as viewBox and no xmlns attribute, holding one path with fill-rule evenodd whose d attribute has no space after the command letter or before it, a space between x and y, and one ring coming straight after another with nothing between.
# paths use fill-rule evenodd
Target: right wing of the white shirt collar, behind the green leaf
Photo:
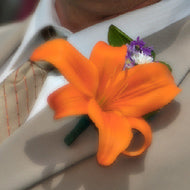
<instances>
[{"instance_id":1,"label":"right wing of the white shirt collar, behind the green leaf","mask_svg":"<svg viewBox=\"0 0 190 190\"><path fill-rule=\"evenodd\" d=\"M107 42L108 28L111 24L116 25L134 39L137 36L144 38L188 16L189 13L189 0L162 0L154 5L86 28L71 35L68 41L83 55L89 57L96 42Z\"/></svg>"}]
</instances>

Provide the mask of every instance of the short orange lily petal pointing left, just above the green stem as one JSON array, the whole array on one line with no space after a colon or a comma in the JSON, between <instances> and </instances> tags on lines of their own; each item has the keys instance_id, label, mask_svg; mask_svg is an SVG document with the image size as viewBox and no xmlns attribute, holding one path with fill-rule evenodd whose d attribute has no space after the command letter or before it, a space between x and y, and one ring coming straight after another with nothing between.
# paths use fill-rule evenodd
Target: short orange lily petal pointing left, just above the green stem
<instances>
[{"instance_id":1,"label":"short orange lily petal pointing left, just above the green stem","mask_svg":"<svg viewBox=\"0 0 190 190\"><path fill-rule=\"evenodd\" d=\"M48 97L50 107L55 111L55 119L72 115L87 114L88 98L71 84L54 91Z\"/></svg>"}]
</instances>

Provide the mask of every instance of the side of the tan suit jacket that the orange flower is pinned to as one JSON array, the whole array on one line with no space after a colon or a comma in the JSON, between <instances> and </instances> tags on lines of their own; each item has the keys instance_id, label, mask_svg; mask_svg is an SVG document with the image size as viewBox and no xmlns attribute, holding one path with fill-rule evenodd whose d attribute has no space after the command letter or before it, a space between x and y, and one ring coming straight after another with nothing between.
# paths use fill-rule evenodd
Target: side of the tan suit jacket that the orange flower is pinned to
<instances>
[{"instance_id":1,"label":"side of the tan suit jacket that the orange flower is pinned to","mask_svg":"<svg viewBox=\"0 0 190 190\"><path fill-rule=\"evenodd\" d=\"M182 89L175 101L150 121L153 143L148 152L137 158L120 156L112 166L101 167L94 156L98 136L93 128L68 148L62 138L76 120L54 121L52 111L47 108L0 145L0 189L189 189L190 17L145 41L155 47L157 60L172 66Z\"/></svg>"}]
</instances>

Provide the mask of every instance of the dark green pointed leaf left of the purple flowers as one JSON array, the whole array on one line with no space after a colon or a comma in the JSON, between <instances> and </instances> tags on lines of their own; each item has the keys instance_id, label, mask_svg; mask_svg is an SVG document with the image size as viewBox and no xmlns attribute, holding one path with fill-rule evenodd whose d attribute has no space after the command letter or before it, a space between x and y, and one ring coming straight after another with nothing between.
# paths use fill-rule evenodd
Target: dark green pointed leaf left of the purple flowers
<instances>
[{"instance_id":1,"label":"dark green pointed leaf left of the purple flowers","mask_svg":"<svg viewBox=\"0 0 190 190\"><path fill-rule=\"evenodd\" d=\"M129 44L133 41L127 34L122 32L119 28L114 25L110 25L108 31L108 42L111 46L122 46L125 44Z\"/></svg>"}]
</instances>

